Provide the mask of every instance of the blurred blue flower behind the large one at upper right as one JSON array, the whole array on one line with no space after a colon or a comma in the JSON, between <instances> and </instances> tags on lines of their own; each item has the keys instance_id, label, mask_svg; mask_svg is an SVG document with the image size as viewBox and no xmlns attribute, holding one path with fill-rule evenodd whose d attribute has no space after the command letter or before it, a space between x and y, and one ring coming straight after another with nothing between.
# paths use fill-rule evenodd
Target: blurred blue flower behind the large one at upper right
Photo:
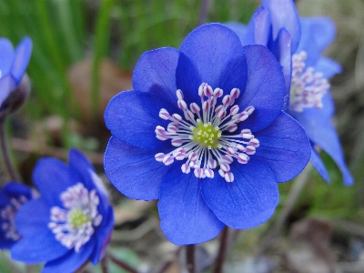
<instances>
[{"instance_id":1,"label":"blurred blue flower behind the large one at upper right","mask_svg":"<svg viewBox=\"0 0 364 273\"><path fill-rule=\"evenodd\" d=\"M266 45L277 57L286 83L283 109L305 128L311 142L313 166L329 181L317 146L337 163L344 184L352 185L339 136L330 121L334 106L328 78L339 73L341 66L321 56L335 37L332 21L326 17L299 18L291 0L263 0L249 25L227 25L239 35L242 45Z\"/></svg>"}]
</instances>

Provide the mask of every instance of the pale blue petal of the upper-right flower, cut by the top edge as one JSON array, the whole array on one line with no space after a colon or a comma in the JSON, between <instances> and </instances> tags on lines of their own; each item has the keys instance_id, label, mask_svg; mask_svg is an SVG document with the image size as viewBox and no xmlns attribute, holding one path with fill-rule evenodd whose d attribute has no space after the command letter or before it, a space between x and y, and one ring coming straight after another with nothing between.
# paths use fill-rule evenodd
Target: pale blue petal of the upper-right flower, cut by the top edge
<instances>
[{"instance_id":1,"label":"pale blue petal of the upper-right flower, cut by the top edge","mask_svg":"<svg viewBox=\"0 0 364 273\"><path fill-rule=\"evenodd\" d=\"M298 12L292 0L263 0L263 6L270 11L273 40L281 28L286 28L292 38L292 52L298 47L301 35Z\"/></svg>"}]
</instances>

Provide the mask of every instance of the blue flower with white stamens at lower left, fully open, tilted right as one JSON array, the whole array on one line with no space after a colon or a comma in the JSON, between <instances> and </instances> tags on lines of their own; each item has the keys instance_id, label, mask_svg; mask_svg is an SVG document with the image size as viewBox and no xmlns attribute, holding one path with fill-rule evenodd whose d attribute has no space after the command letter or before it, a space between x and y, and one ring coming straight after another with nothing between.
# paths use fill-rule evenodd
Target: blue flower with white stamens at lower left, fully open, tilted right
<instances>
[{"instance_id":1,"label":"blue flower with white stamens at lower left, fully open, tilted right","mask_svg":"<svg viewBox=\"0 0 364 273\"><path fill-rule=\"evenodd\" d=\"M11 257L26 264L45 263L42 272L74 272L88 259L98 263L114 217L94 167L71 149L69 167L45 157L33 177L41 197L17 212L15 224L23 238L11 248Z\"/></svg>"}]
</instances>

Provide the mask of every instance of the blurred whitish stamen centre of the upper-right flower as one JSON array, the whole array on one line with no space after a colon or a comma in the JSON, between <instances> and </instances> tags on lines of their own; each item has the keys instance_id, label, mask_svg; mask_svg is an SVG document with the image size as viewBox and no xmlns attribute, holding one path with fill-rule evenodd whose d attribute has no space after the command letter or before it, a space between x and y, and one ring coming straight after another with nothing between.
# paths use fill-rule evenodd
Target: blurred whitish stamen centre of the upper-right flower
<instances>
[{"instance_id":1,"label":"blurred whitish stamen centre of the upper-right flower","mask_svg":"<svg viewBox=\"0 0 364 273\"><path fill-rule=\"evenodd\" d=\"M330 87L322 73L314 73L311 66L305 69L306 58L305 51L292 56L289 107L296 112L302 112L303 108L322 108L322 97Z\"/></svg>"}]
</instances>

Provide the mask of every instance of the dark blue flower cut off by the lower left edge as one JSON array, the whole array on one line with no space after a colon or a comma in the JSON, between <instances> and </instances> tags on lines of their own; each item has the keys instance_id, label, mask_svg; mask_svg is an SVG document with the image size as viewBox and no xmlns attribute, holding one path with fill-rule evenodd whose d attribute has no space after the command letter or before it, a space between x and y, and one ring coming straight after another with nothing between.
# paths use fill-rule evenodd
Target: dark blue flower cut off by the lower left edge
<instances>
[{"instance_id":1,"label":"dark blue flower cut off by the lower left edge","mask_svg":"<svg viewBox=\"0 0 364 273\"><path fill-rule=\"evenodd\" d=\"M0 248L11 248L20 238L15 227L15 213L33 198L32 190L17 182L9 182L0 190Z\"/></svg>"}]
</instances>

